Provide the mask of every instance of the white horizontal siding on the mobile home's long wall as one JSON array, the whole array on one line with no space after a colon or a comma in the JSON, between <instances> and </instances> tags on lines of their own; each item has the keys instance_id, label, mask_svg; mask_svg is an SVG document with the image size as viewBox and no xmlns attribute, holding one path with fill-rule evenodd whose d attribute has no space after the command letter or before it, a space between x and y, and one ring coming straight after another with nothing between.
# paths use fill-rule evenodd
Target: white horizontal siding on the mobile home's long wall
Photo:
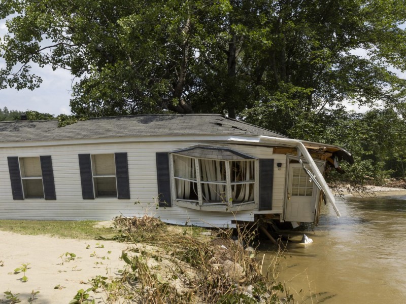
<instances>
[{"instance_id":1,"label":"white horizontal siding on the mobile home's long wall","mask_svg":"<svg viewBox=\"0 0 406 304\"><path fill-rule=\"evenodd\" d=\"M19 148L0 148L0 218L4 219L111 219L114 216L142 216L149 214L160 216L162 220L185 224L206 223L206 225L227 225L231 220L253 220L253 212L240 211L231 213L215 213L174 207L157 208L155 200L157 190L155 153L173 151L199 142L125 142L106 144L78 144L58 146L37 146ZM217 143L217 145L225 145ZM283 210L283 193L285 184L286 157L272 155L272 148L249 145L228 144L235 150L258 157L275 158L275 166L282 163L282 170L275 167L274 199L272 213ZM128 171L130 184L130 200L115 198L96 198L83 200L79 173L78 154L108 154L126 152L128 155ZM13 200L7 157L38 157L52 156L55 179L56 200L25 199ZM134 204L140 202L140 204Z\"/></svg>"}]
</instances>

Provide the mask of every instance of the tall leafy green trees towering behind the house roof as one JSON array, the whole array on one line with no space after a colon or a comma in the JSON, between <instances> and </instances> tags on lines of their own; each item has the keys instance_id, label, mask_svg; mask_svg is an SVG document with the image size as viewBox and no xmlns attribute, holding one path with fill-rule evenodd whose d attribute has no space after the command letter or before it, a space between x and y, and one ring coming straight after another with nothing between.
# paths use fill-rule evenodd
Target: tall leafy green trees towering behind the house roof
<instances>
[{"instance_id":1,"label":"tall leafy green trees towering behind the house roof","mask_svg":"<svg viewBox=\"0 0 406 304\"><path fill-rule=\"evenodd\" d=\"M405 16L396 0L3 0L0 86L34 89L29 64L49 64L79 79L78 115L221 112L291 133L344 101L404 110Z\"/></svg>"}]
</instances>

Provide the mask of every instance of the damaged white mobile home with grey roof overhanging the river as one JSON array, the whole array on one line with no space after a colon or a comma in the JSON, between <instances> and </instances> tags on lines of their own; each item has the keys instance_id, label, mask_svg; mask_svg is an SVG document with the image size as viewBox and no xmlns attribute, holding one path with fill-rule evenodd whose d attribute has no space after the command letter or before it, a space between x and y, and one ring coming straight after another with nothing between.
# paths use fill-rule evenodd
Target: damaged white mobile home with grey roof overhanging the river
<instances>
[{"instance_id":1,"label":"damaged white mobile home with grey roof overhanging the river","mask_svg":"<svg viewBox=\"0 0 406 304\"><path fill-rule=\"evenodd\" d=\"M0 123L2 219L160 217L233 226L258 218L317 222L326 164L344 149L221 115Z\"/></svg>"}]
</instances>

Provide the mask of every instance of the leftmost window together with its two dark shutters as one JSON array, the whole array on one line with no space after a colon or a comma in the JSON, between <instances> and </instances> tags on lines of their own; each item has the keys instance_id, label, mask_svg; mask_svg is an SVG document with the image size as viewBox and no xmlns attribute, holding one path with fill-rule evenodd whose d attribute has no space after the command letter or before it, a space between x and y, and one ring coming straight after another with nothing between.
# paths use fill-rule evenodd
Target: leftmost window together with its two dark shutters
<instances>
[{"instance_id":1,"label":"leftmost window together with its two dark shutters","mask_svg":"<svg viewBox=\"0 0 406 304\"><path fill-rule=\"evenodd\" d=\"M56 200L51 156L7 157L14 200Z\"/></svg>"}]
</instances>

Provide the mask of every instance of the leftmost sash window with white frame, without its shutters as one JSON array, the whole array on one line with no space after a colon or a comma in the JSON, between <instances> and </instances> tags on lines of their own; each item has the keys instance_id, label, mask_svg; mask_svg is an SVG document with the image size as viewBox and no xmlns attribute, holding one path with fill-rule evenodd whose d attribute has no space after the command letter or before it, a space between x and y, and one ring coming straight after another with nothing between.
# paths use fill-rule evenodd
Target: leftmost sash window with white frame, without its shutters
<instances>
[{"instance_id":1,"label":"leftmost sash window with white frame, without its shutters","mask_svg":"<svg viewBox=\"0 0 406 304\"><path fill-rule=\"evenodd\" d=\"M40 158L19 158L19 165L24 198L44 198Z\"/></svg>"}]
</instances>

